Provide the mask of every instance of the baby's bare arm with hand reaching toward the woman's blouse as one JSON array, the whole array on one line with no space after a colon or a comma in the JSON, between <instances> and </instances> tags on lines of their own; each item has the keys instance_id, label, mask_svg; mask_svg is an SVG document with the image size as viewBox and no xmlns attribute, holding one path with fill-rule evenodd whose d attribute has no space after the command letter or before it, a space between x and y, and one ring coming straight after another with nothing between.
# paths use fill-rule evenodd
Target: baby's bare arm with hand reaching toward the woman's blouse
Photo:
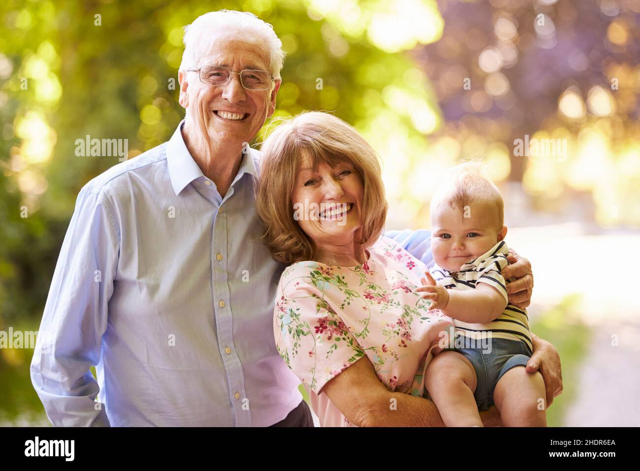
<instances>
[{"instance_id":1,"label":"baby's bare arm with hand reaching toward the woman's blouse","mask_svg":"<svg viewBox=\"0 0 640 471\"><path fill-rule=\"evenodd\" d=\"M420 286L416 291L426 292L422 297L431 301L429 310L438 308L444 315L462 322L484 324L499 317L507 305L499 290L482 283L481 279L476 283L474 290L456 291L447 290L444 285L437 283L429 272L424 274L424 286Z\"/></svg>"}]
</instances>

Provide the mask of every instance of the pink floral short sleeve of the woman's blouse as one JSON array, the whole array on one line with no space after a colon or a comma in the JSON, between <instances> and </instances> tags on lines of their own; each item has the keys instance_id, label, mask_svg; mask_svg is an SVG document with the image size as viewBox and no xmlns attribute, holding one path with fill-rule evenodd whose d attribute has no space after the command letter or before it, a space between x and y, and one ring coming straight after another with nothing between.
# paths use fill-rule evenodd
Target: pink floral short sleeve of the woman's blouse
<instances>
[{"instance_id":1,"label":"pink floral short sleeve of the woman's blouse","mask_svg":"<svg viewBox=\"0 0 640 471\"><path fill-rule=\"evenodd\" d=\"M300 283L286 291L278 290L275 304L276 347L292 372L319 394L365 352L314 286Z\"/></svg>"}]
</instances>

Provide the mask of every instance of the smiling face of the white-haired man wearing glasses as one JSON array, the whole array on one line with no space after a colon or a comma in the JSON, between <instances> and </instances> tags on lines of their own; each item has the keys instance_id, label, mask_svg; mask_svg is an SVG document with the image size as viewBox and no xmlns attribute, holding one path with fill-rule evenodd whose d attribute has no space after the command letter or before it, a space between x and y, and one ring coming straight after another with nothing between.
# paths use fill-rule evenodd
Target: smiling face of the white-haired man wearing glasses
<instances>
[{"instance_id":1,"label":"smiling face of the white-haired man wearing glasses","mask_svg":"<svg viewBox=\"0 0 640 471\"><path fill-rule=\"evenodd\" d=\"M233 72L269 69L269 55L264 46L242 38L239 31L223 31L213 38L212 44L211 52L193 64L194 69L203 65L228 67ZM180 104L200 135L217 144L238 146L251 142L273 114L280 88L280 81L276 81L269 90L246 90L237 74L232 74L224 87L202 83L198 72L181 71L179 79Z\"/></svg>"}]
</instances>

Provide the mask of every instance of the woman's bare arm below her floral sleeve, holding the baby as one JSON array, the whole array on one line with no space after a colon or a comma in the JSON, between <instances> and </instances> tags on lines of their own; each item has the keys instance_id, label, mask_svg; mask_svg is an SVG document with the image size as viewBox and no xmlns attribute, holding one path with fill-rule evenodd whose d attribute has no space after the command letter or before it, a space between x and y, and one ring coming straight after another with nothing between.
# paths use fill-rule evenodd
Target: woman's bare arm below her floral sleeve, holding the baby
<instances>
[{"instance_id":1,"label":"woman's bare arm below her floral sleeve, holding the baby","mask_svg":"<svg viewBox=\"0 0 640 471\"><path fill-rule=\"evenodd\" d=\"M367 356L326 383L322 390L358 427L444 427L432 401L389 391ZM500 426L500 414L492 409L483 411L480 417L485 426Z\"/></svg>"}]
</instances>

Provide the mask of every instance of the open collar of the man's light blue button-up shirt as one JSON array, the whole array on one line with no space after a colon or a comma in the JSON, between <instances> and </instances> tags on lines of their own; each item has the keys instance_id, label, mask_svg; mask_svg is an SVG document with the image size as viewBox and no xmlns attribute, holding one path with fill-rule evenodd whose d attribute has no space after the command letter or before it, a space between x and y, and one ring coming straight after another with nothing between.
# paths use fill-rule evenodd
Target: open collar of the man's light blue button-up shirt
<instances>
[{"instance_id":1,"label":"open collar of the man's light blue button-up shirt","mask_svg":"<svg viewBox=\"0 0 640 471\"><path fill-rule=\"evenodd\" d=\"M184 187L196 178L204 177L202 170L200 170L198 164L193 160L189 149L187 149L186 144L184 144L184 138L182 138L181 132L182 126L184 126L184 119L180 121L166 149L169 177L176 195L179 195L180 192L184 190ZM232 185L242 178L245 173L255 176L256 167L254 158L258 158L259 154L259 151L256 149L247 146L247 151L243 154L243 160L240 163L240 168Z\"/></svg>"}]
</instances>

